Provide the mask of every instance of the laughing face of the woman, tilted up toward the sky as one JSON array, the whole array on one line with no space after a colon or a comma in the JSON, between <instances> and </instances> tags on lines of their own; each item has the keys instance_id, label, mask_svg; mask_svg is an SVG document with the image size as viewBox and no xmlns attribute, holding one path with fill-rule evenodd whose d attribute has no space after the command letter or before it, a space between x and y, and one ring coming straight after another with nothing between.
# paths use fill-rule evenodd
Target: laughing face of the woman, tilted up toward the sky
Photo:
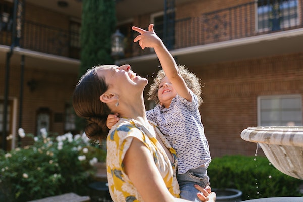
<instances>
[{"instance_id":1,"label":"laughing face of the woman, tilted up toward the sky","mask_svg":"<svg viewBox=\"0 0 303 202\"><path fill-rule=\"evenodd\" d=\"M103 65L97 68L99 77L104 77L109 88L125 89L129 92L132 88L142 88L147 85L148 80L142 78L131 70L130 65Z\"/></svg>"}]
</instances>

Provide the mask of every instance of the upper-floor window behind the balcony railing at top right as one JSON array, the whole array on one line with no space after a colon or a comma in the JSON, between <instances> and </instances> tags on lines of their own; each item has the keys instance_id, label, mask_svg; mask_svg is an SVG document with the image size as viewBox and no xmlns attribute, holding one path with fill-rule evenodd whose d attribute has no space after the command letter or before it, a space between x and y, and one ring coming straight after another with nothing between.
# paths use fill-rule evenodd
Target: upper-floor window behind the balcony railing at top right
<instances>
[{"instance_id":1,"label":"upper-floor window behind the balcony railing at top right","mask_svg":"<svg viewBox=\"0 0 303 202\"><path fill-rule=\"evenodd\" d=\"M258 0L258 30L275 31L299 24L298 0Z\"/></svg>"}]
</instances>

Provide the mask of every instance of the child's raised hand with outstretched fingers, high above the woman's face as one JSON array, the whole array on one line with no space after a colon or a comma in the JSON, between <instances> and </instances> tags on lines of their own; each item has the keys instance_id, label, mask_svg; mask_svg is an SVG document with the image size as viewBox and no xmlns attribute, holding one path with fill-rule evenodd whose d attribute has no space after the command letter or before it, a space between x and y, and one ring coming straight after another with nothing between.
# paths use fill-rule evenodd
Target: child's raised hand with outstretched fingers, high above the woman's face
<instances>
[{"instance_id":1,"label":"child's raised hand with outstretched fingers, high above the woman's face","mask_svg":"<svg viewBox=\"0 0 303 202\"><path fill-rule=\"evenodd\" d=\"M134 42L139 41L139 45L143 50L145 47L154 48L158 45L163 44L161 39L156 35L154 31L154 24L149 25L148 31L135 26L132 27L132 30L140 33L140 35L134 39Z\"/></svg>"}]
</instances>

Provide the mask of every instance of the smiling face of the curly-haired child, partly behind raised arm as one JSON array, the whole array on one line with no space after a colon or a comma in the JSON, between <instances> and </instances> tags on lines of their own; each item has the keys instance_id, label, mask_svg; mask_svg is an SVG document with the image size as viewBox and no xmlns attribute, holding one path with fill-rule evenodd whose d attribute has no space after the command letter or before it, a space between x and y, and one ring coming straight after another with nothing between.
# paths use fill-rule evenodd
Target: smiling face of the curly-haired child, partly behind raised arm
<instances>
[{"instance_id":1,"label":"smiling face of the curly-haired child, partly behind raised arm","mask_svg":"<svg viewBox=\"0 0 303 202\"><path fill-rule=\"evenodd\" d=\"M158 98L161 105L168 108L177 92L168 78L165 76L158 86Z\"/></svg>"}]
</instances>

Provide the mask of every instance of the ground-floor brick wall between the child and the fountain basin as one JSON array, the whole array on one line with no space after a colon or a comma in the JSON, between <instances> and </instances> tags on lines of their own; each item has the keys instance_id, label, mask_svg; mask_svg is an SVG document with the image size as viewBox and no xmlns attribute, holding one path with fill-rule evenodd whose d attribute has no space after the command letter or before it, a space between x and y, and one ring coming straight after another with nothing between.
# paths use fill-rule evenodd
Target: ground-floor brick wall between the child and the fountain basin
<instances>
[{"instance_id":1,"label":"ground-floor brick wall between the child and the fountain basin","mask_svg":"<svg viewBox=\"0 0 303 202\"><path fill-rule=\"evenodd\" d=\"M240 133L257 126L257 97L303 95L302 67L303 52L198 67L195 73L205 83L200 111L212 156L254 155L256 144Z\"/></svg>"}]
</instances>

